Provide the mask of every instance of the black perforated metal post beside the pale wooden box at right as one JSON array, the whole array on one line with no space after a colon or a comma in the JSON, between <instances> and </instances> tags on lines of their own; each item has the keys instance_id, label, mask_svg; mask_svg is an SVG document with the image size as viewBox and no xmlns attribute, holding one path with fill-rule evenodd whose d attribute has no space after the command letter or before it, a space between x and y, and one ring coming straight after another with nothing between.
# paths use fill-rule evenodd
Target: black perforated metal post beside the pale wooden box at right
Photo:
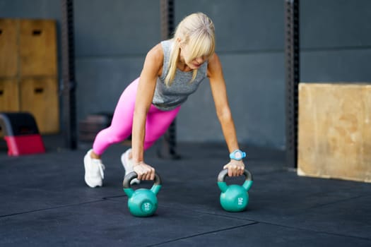
<instances>
[{"instance_id":1,"label":"black perforated metal post beside the pale wooden box at right","mask_svg":"<svg viewBox=\"0 0 371 247\"><path fill-rule=\"evenodd\" d=\"M299 0L285 0L286 166L298 159Z\"/></svg>"}]
</instances>

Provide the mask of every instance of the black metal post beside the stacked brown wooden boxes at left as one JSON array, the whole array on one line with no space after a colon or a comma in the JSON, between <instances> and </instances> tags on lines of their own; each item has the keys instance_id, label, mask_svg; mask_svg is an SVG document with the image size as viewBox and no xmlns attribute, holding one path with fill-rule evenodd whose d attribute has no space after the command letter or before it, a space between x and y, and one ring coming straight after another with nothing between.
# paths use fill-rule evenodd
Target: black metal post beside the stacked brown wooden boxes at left
<instances>
[{"instance_id":1,"label":"black metal post beside the stacked brown wooden boxes at left","mask_svg":"<svg viewBox=\"0 0 371 247\"><path fill-rule=\"evenodd\" d=\"M77 147L76 136L76 83L75 52L73 40L73 0L61 0L61 58L62 58L62 95L63 126L66 147Z\"/></svg>"}]
</instances>

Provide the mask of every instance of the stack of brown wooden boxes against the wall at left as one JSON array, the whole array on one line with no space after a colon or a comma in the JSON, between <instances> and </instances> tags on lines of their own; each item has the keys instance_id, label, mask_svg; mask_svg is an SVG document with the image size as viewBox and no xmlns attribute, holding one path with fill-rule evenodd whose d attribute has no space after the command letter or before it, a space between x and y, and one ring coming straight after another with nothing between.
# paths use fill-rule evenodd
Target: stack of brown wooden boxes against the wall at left
<instances>
[{"instance_id":1,"label":"stack of brown wooden boxes against the wall at left","mask_svg":"<svg viewBox=\"0 0 371 247\"><path fill-rule=\"evenodd\" d=\"M0 18L0 112L30 112L42 134L59 132L56 24Z\"/></svg>"}]
</instances>

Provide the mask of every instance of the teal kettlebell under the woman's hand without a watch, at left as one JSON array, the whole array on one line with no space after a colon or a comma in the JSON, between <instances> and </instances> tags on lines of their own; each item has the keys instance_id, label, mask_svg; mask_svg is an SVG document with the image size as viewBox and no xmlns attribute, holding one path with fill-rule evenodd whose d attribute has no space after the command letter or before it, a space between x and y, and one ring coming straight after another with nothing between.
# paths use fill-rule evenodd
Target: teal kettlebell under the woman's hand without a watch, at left
<instances>
[{"instance_id":1,"label":"teal kettlebell under the woman's hand without a watch, at left","mask_svg":"<svg viewBox=\"0 0 371 247\"><path fill-rule=\"evenodd\" d=\"M129 197L127 205L131 215L136 217L148 217L155 213L158 206L158 200L156 195L161 188L161 178L155 173L155 182L151 189L148 188L139 188L134 191L130 186L130 181L136 179L138 174L135 171L127 174L124 177L124 192Z\"/></svg>"}]
</instances>

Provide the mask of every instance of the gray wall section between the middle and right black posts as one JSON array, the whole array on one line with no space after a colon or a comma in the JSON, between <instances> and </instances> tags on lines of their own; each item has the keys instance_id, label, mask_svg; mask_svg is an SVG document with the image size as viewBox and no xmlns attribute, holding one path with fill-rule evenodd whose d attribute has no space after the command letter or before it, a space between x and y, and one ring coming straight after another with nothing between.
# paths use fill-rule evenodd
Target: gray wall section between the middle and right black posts
<instances>
[{"instance_id":1,"label":"gray wall section between the middle and right black posts","mask_svg":"<svg viewBox=\"0 0 371 247\"><path fill-rule=\"evenodd\" d=\"M206 13L216 26L216 52L239 141L283 148L283 2L177 1L177 22L195 11ZM208 83L184 104L178 132L184 140L223 140Z\"/></svg>"}]
</instances>

